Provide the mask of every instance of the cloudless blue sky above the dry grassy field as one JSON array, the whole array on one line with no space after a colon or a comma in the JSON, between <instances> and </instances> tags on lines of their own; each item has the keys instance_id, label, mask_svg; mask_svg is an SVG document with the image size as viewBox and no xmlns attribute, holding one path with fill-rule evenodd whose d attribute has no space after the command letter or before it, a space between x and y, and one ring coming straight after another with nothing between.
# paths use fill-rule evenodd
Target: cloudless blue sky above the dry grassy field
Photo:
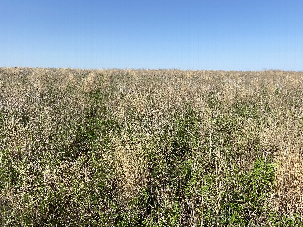
<instances>
[{"instance_id":1,"label":"cloudless blue sky above the dry grassy field","mask_svg":"<svg viewBox=\"0 0 303 227\"><path fill-rule=\"evenodd\" d=\"M0 66L303 71L303 1L3 1Z\"/></svg>"}]
</instances>

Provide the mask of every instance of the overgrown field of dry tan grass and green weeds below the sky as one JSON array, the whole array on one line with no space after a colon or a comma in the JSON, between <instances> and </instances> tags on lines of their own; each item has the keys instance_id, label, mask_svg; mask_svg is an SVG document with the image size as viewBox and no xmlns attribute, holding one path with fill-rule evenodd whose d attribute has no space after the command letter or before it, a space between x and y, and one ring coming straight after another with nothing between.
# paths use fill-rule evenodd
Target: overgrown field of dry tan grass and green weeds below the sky
<instances>
[{"instance_id":1,"label":"overgrown field of dry tan grass and green weeds below the sky","mask_svg":"<svg viewBox=\"0 0 303 227\"><path fill-rule=\"evenodd\" d=\"M303 226L303 72L0 68L0 226Z\"/></svg>"}]
</instances>

